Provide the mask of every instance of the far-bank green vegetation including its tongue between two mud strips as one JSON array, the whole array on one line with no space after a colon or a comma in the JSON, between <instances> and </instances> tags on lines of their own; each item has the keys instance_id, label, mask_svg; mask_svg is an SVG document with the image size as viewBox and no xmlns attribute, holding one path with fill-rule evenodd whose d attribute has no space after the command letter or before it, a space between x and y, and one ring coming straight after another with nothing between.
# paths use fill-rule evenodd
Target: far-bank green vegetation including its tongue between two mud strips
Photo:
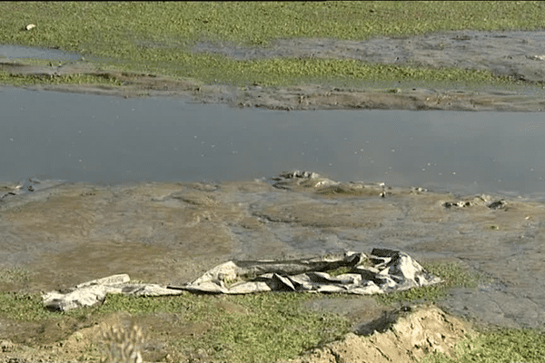
<instances>
[{"instance_id":1,"label":"far-bank green vegetation including its tongue between two mud strips","mask_svg":"<svg viewBox=\"0 0 545 363\"><path fill-rule=\"evenodd\" d=\"M205 83L461 81L505 83L487 72L350 60L235 61L193 54L197 41L266 46L273 39L364 40L445 30L543 28L540 2L0 3L0 44L84 54L104 67ZM35 24L30 31L25 25ZM94 80L90 80L94 81ZM2 81L5 82L5 81Z\"/></svg>"}]
</instances>

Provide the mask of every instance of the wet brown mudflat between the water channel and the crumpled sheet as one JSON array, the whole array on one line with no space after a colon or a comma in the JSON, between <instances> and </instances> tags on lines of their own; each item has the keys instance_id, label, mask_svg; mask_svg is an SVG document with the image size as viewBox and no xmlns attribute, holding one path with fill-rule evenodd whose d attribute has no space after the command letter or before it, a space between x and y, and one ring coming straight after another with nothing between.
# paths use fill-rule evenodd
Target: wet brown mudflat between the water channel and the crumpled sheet
<instances>
[{"instance_id":1,"label":"wet brown mudflat between the water channel and the crumpled sheet","mask_svg":"<svg viewBox=\"0 0 545 363\"><path fill-rule=\"evenodd\" d=\"M439 313L432 320L451 327L445 337L452 341L467 332L461 323L452 328L453 317L470 319L478 326L543 327L543 203L359 183L316 185L318 181L292 178L276 186L274 181L260 180L114 187L42 182L25 193L5 185L4 193L15 194L5 194L0 201L0 289L36 293L116 273L179 285L225 260L299 258L381 247L404 250L422 263L454 262L483 276L477 287L451 289L438 302L451 318ZM322 298L305 306L342 312L350 324L376 320L391 311L367 298L358 298L359 303ZM225 304L223 309L229 311L242 309L237 303ZM51 327L3 319L0 331L17 344L53 347L74 331L106 324L94 319ZM169 315L168 319L182 318ZM197 336L198 329L210 329L192 327ZM431 334L430 327L422 329ZM33 331L49 336L38 338ZM169 348L158 347L152 356L165 358ZM49 353L40 354L53 354L44 349ZM326 353L342 351L338 349L326 349ZM316 357L311 361L322 361Z\"/></svg>"}]
</instances>

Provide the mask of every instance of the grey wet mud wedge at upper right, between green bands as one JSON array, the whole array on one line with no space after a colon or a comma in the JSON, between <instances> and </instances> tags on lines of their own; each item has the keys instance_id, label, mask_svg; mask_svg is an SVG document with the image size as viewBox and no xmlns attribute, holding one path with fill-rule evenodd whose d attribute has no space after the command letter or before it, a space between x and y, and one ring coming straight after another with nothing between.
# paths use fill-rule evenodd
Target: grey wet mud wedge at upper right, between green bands
<instances>
[{"instance_id":1,"label":"grey wet mud wedge at upper right, between green bands","mask_svg":"<svg viewBox=\"0 0 545 363\"><path fill-rule=\"evenodd\" d=\"M367 41L280 39L268 47L201 42L195 53L238 60L267 58L353 59L372 64L456 67L490 71L525 82L545 81L545 32L459 31Z\"/></svg>"}]
</instances>

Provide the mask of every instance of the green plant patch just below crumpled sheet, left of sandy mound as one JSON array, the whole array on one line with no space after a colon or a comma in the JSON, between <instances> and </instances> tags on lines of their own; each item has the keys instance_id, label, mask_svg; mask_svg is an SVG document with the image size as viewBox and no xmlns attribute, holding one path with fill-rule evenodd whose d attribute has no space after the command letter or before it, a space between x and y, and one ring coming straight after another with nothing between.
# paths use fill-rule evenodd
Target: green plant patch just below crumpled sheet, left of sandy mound
<instances>
[{"instance_id":1,"label":"green plant patch just below crumpled sheet, left of sandy mound","mask_svg":"<svg viewBox=\"0 0 545 363\"><path fill-rule=\"evenodd\" d=\"M108 298L103 311L133 314L184 311L184 319L206 324L209 330L198 339L175 338L171 344L176 351L189 353L202 349L216 360L264 362L292 358L308 348L339 339L349 331L347 319L302 309L302 301L309 299L312 296L308 294L292 293L219 298L185 295L169 299L116 295ZM222 304L234 306L237 311L226 312Z\"/></svg>"}]
</instances>

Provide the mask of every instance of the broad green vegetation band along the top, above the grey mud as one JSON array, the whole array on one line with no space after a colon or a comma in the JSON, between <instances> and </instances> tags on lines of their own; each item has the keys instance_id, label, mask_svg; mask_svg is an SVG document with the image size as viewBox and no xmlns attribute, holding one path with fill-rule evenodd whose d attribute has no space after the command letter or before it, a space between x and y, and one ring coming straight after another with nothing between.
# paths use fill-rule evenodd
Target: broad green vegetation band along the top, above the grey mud
<instances>
[{"instance_id":1,"label":"broad green vegetation band along the top, above the grey mud","mask_svg":"<svg viewBox=\"0 0 545 363\"><path fill-rule=\"evenodd\" d=\"M122 57L196 40L364 40L448 30L542 29L540 2L9 2L0 43ZM25 31L25 26L36 25Z\"/></svg>"}]
</instances>

